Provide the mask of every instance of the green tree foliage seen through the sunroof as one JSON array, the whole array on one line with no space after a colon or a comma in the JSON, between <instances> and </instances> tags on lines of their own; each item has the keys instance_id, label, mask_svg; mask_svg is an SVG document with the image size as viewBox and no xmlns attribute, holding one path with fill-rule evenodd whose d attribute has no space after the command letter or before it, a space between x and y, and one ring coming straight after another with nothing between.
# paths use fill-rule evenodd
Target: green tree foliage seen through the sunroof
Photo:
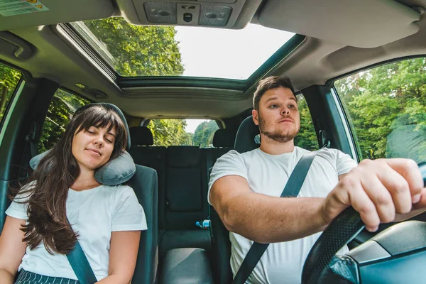
<instances>
[{"instance_id":1,"label":"green tree foliage seen through the sunroof","mask_svg":"<svg viewBox=\"0 0 426 284\"><path fill-rule=\"evenodd\" d=\"M119 17L84 24L106 45L122 76L178 76L184 71L172 26L134 26Z\"/></svg>"}]
</instances>

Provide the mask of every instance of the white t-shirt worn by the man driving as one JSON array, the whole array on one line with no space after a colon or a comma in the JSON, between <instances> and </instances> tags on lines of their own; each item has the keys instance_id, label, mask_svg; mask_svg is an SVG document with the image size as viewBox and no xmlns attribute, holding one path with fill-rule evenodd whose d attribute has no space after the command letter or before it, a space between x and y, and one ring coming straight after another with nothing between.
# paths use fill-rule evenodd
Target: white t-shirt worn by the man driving
<instances>
[{"instance_id":1,"label":"white t-shirt worn by the man driving","mask_svg":"<svg viewBox=\"0 0 426 284\"><path fill-rule=\"evenodd\" d=\"M249 182L253 192L279 197L297 162L307 152L300 147L295 147L292 153L281 155L270 155L259 148L242 154L229 151L214 164L209 193L219 178L239 175ZM327 197L339 182L339 175L348 173L354 167L356 162L349 155L336 149L322 149L312 162L298 197ZM271 244L246 283L300 283L307 254L320 234ZM253 241L232 232L229 239L232 245L231 269L236 275ZM346 251L345 246L339 253Z\"/></svg>"}]
</instances>

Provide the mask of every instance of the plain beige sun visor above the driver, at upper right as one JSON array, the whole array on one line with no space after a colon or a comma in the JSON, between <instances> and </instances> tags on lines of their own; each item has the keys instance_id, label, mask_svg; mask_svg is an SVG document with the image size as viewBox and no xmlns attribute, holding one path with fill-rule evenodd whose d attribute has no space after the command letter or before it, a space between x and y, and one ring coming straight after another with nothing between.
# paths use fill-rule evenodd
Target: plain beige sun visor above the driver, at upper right
<instances>
[{"instance_id":1,"label":"plain beige sun visor above the driver, at upper right","mask_svg":"<svg viewBox=\"0 0 426 284\"><path fill-rule=\"evenodd\" d=\"M420 13L392 0L269 0L262 26L357 48L376 48L419 31Z\"/></svg>"}]
</instances>

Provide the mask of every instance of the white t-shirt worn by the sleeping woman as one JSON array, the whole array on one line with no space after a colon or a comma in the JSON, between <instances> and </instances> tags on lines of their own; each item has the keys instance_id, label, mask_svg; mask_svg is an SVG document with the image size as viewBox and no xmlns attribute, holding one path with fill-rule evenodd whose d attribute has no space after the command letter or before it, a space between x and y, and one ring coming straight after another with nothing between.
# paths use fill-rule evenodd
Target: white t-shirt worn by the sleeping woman
<instances>
[{"instance_id":1,"label":"white t-shirt worn by the sleeping woman","mask_svg":"<svg viewBox=\"0 0 426 284\"><path fill-rule=\"evenodd\" d=\"M18 198L19 195L15 199ZM100 185L80 192L70 189L66 206L68 220L79 234L78 241L97 280L108 276L111 232L147 229L145 212L129 186ZM28 204L12 202L6 214L26 220L27 208ZM19 270L21 268L41 275L77 280L67 257L51 255L43 241L33 250L27 247Z\"/></svg>"}]
</instances>

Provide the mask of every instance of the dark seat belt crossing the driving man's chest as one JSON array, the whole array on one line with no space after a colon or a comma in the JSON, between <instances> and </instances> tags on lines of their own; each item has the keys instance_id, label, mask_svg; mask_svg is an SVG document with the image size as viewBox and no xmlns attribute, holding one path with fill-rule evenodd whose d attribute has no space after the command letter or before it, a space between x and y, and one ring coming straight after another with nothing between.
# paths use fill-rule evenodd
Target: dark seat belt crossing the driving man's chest
<instances>
[{"instance_id":1,"label":"dark seat belt crossing the driving man's chest","mask_svg":"<svg viewBox=\"0 0 426 284\"><path fill-rule=\"evenodd\" d=\"M288 178L288 182L285 184L284 190L281 193L280 197L297 197L299 195L300 189L302 188L303 182L305 181L307 172L312 164L317 153L322 149L310 153L306 153L300 158L299 162L295 166L293 172ZM243 263L239 270L237 271L232 284L244 284L249 278L251 272L256 267L257 263L261 260L263 253L268 249L269 244L260 244L253 242L249 252L244 258Z\"/></svg>"}]
</instances>

